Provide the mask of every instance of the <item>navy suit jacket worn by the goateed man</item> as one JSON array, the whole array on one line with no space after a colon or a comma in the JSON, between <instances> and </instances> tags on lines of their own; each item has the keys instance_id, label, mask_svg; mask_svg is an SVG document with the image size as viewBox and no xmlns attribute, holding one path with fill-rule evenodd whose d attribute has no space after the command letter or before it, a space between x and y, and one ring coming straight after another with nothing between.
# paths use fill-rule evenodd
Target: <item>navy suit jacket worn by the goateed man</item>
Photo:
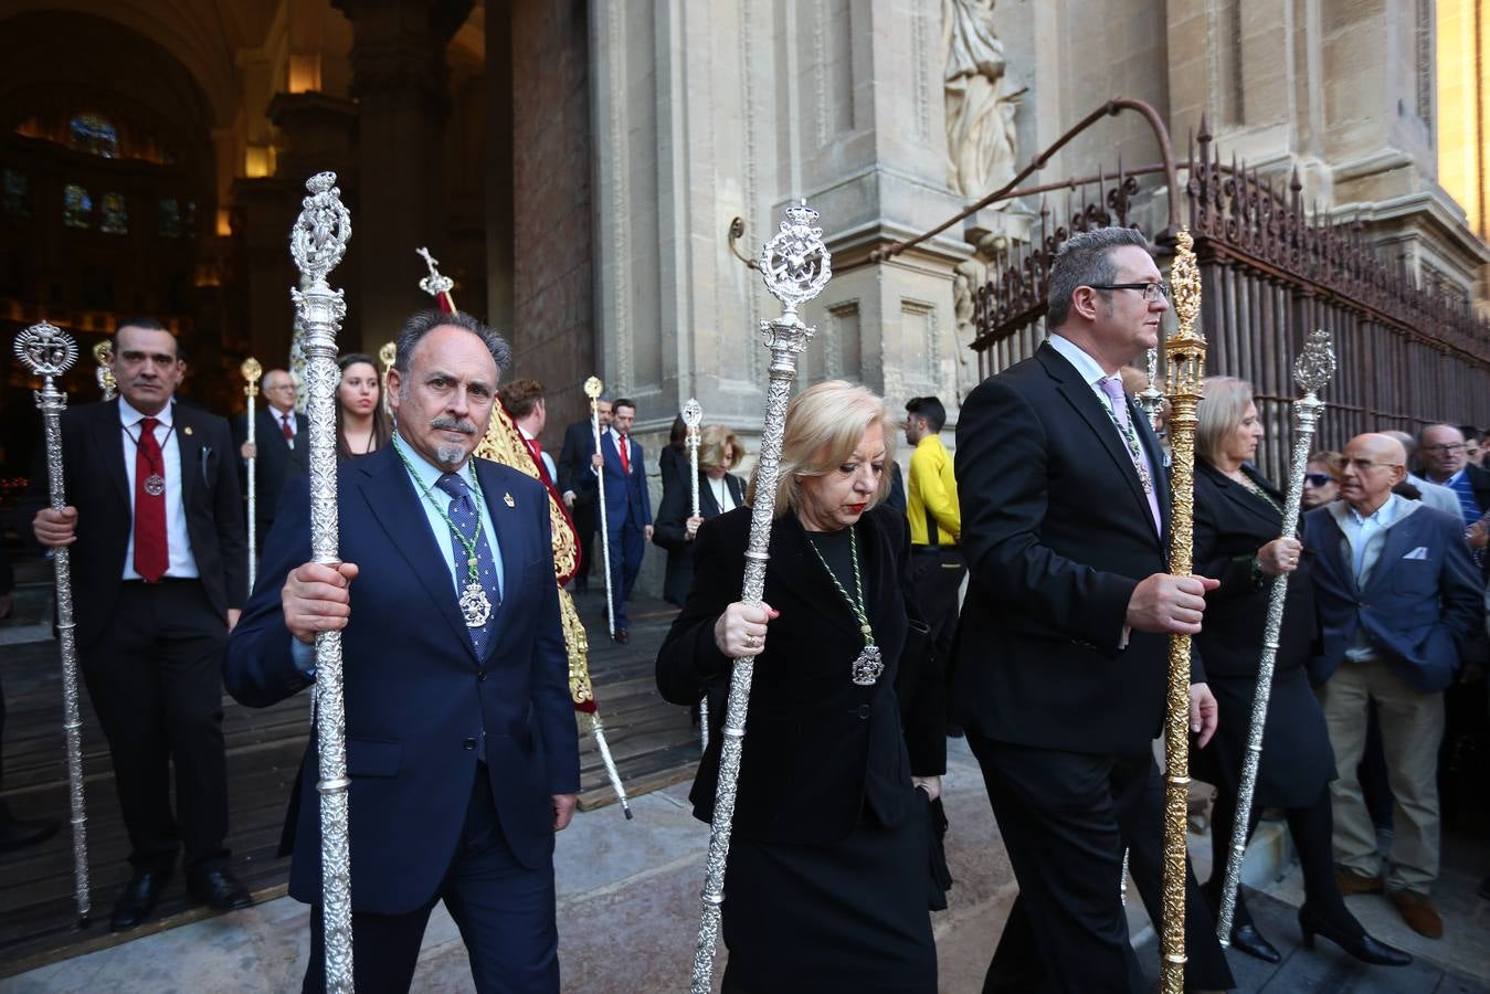
<instances>
[{"instance_id":1,"label":"navy suit jacket worn by the goateed man","mask_svg":"<svg viewBox=\"0 0 1490 994\"><path fill-rule=\"evenodd\" d=\"M548 495L523 472L475 465L505 571L484 659L395 449L340 468L340 554L361 571L341 635L359 912L404 914L435 894L460 842L483 727L498 820L523 866L551 863L550 796L580 790ZM292 486L264 550L259 589L228 641L224 678L241 703L268 706L311 683L295 666L280 610L286 574L308 559L310 490ZM292 826L291 896L302 902L320 899L316 779L311 736Z\"/></svg>"}]
</instances>

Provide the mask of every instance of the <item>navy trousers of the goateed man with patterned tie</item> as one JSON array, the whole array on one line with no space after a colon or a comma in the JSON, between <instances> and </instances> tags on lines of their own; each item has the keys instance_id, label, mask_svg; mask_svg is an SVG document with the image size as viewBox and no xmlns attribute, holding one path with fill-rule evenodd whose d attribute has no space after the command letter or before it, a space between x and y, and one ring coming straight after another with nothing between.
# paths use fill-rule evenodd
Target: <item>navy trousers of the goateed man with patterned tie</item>
<instances>
[{"instance_id":1,"label":"navy trousers of the goateed man with patterned tie","mask_svg":"<svg viewBox=\"0 0 1490 994\"><path fill-rule=\"evenodd\" d=\"M352 872L356 896L356 864ZM480 994L559 991L553 864L530 870L513 855L496 820L486 763L477 763L456 858L429 903L404 915L352 914L352 973L361 994L410 990L425 925L440 900L460 928ZM304 994L326 990L325 963L325 925L317 905L310 915Z\"/></svg>"}]
</instances>

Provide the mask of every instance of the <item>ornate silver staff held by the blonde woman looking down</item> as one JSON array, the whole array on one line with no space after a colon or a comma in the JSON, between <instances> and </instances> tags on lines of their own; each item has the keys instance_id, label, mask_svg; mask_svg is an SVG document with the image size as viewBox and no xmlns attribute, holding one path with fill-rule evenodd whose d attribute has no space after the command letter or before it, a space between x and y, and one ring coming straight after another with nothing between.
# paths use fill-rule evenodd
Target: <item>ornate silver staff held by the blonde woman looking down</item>
<instances>
[{"instance_id":1,"label":"ornate silver staff held by the blonde woman looking down","mask_svg":"<svg viewBox=\"0 0 1490 994\"><path fill-rule=\"evenodd\" d=\"M745 714L749 706L751 677L755 653L763 636L749 626L766 620L769 608L761 604L766 587L766 560L770 545L770 525L776 511L776 478L781 468L781 441L787 425L787 401L797 374L797 353L808 347L814 329L803 323L797 308L822 292L833 276L831 256L822 244L822 229L814 228L818 212L800 201L785 212L781 229L761 246L760 274L766 289L781 301L781 316L763 320L761 334L770 349L769 383L766 386L766 417L760 441L760 462L755 475L755 504L751 507L749 544L745 550L745 580L741 602L744 612L755 618L735 617L729 635L735 665L730 674L730 696L724 708L724 741L720 748L718 790L714 820L709 826L709 852L703 882L699 937L693 951L693 994L709 994L714 987L714 946L720 936L720 912L724 903L724 864L730 854L730 823L735 817L735 791L739 781L741 754L745 745ZM697 474L694 474L697 477Z\"/></svg>"}]
</instances>

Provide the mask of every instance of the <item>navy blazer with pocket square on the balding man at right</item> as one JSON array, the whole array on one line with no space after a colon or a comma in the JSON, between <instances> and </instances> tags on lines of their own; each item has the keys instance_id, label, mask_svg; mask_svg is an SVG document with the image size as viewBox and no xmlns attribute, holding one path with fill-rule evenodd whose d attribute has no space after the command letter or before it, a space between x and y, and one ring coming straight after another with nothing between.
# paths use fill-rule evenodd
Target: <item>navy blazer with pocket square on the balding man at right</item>
<instances>
[{"instance_id":1,"label":"navy blazer with pocket square on the balding man at right","mask_svg":"<svg viewBox=\"0 0 1490 994\"><path fill-rule=\"evenodd\" d=\"M1363 590L1329 507L1304 516L1302 538L1322 627L1320 654L1308 663L1316 687L1340 668L1357 626L1423 693L1453 683L1463 642L1484 620L1483 589L1460 522L1423 505L1399 517ZM1405 559L1413 553L1418 556Z\"/></svg>"}]
</instances>

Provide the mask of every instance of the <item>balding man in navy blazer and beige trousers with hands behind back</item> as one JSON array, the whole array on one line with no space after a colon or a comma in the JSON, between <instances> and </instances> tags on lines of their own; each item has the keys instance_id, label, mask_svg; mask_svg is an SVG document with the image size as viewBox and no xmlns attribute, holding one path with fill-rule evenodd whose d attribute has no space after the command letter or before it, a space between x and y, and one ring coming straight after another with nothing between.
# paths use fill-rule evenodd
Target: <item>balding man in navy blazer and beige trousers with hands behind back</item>
<instances>
[{"instance_id":1,"label":"balding man in navy blazer and beige trousers with hands behind back","mask_svg":"<svg viewBox=\"0 0 1490 994\"><path fill-rule=\"evenodd\" d=\"M1337 882L1342 894L1386 894L1421 936L1444 934L1429 897L1438 879L1438 747L1444 690L1471 633L1484 623L1481 583L1463 525L1393 493L1407 452L1387 435L1345 447L1340 498L1304 516L1320 653L1310 660L1340 779ZM1392 788L1392 849L1383 860L1356 767L1375 702Z\"/></svg>"}]
</instances>

